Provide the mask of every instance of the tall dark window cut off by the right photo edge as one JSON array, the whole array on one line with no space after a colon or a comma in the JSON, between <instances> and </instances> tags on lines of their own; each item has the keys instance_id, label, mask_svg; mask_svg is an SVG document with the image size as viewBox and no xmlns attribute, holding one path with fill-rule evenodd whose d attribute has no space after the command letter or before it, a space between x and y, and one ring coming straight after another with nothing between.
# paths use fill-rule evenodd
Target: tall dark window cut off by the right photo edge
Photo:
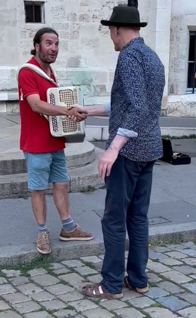
<instances>
[{"instance_id":1,"label":"tall dark window cut off by the right photo edge","mask_svg":"<svg viewBox=\"0 0 196 318\"><path fill-rule=\"evenodd\" d=\"M196 92L196 31L190 31L187 93Z\"/></svg>"}]
</instances>

